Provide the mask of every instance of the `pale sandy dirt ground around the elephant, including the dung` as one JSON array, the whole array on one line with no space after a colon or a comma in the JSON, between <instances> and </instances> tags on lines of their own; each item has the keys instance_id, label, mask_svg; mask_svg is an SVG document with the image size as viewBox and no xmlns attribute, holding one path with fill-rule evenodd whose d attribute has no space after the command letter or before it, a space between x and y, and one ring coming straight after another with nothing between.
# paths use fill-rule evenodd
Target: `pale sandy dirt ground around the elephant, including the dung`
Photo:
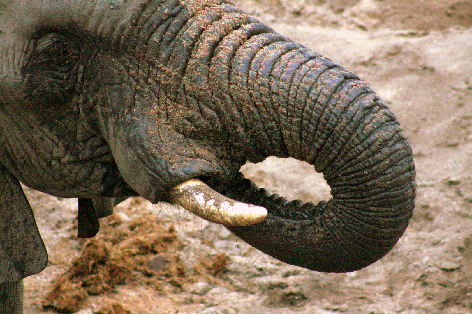
<instances>
[{"instance_id":1,"label":"pale sandy dirt ground around the elephant, including the dung","mask_svg":"<svg viewBox=\"0 0 472 314\"><path fill-rule=\"evenodd\" d=\"M50 256L41 274L25 278L25 313L472 313L472 1L236 4L357 73L399 118L418 181L404 236L372 266L322 274L140 198L101 219L97 237L78 240L76 199L25 188ZM271 158L244 172L291 199L329 199L323 178L293 160Z\"/></svg>"}]
</instances>

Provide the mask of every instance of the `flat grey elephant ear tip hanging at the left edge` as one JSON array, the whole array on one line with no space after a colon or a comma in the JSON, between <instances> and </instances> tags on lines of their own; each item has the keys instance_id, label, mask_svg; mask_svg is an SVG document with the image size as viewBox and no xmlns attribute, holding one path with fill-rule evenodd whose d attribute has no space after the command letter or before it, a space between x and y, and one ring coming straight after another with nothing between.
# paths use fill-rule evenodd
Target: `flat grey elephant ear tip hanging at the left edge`
<instances>
[{"instance_id":1,"label":"flat grey elephant ear tip hanging at the left edge","mask_svg":"<svg viewBox=\"0 0 472 314\"><path fill-rule=\"evenodd\" d=\"M0 283L38 274L47 264L33 210L17 178L0 164Z\"/></svg>"}]
</instances>

